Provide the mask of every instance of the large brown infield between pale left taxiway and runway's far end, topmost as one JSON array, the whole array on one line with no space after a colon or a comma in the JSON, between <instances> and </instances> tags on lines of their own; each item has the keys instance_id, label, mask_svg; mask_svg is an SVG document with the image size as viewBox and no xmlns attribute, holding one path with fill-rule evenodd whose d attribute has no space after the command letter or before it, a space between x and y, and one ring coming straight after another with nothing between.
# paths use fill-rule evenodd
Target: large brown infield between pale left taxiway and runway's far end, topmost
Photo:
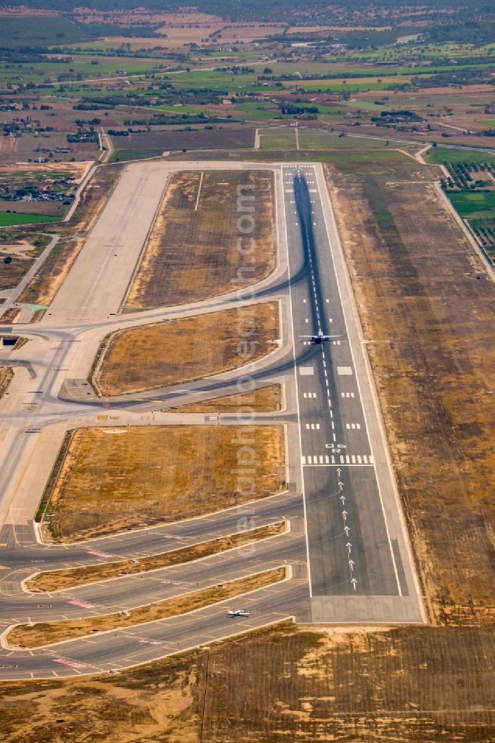
<instances>
[{"instance_id":1,"label":"large brown infield between pale left taxiway and runway's far end, topmost","mask_svg":"<svg viewBox=\"0 0 495 743\"><path fill-rule=\"evenodd\" d=\"M237 227L239 216L250 213L237 209L242 185L247 186L242 195L254 196L243 201L254 207L255 227L249 233L254 244ZM238 250L239 238L249 256ZM248 280L242 286L261 281L276 265L271 173L178 173L166 191L125 305L175 305L217 296L236 288L237 271L247 265L243 276Z\"/></svg>"}]
</instances>

